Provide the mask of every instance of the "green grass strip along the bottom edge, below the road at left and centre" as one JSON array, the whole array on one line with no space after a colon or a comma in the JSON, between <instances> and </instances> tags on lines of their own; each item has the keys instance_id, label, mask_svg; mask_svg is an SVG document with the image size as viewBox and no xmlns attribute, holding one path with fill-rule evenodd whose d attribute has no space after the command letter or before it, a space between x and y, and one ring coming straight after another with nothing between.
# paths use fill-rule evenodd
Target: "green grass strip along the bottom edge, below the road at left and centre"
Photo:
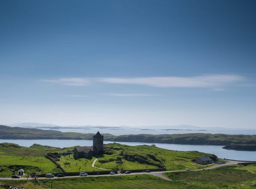
<instances>
[{"instance_id":1,"label":"green grass strip along the bottom edge, below the road at left and centre","mask_svg":"<svg viewBox=\"0 0 256 189\"><path fill-rule=\"evenodd\" d=\"M0 181L12 186L28 186L28 189L46 189L51 187L51 180L33 181ZM21 185L22 184L22 185ZM83 177L73 179L58 179L53 181L53 189L196 189L186 184L170 182L152 175Z\"/></svg>"}]
</instances>

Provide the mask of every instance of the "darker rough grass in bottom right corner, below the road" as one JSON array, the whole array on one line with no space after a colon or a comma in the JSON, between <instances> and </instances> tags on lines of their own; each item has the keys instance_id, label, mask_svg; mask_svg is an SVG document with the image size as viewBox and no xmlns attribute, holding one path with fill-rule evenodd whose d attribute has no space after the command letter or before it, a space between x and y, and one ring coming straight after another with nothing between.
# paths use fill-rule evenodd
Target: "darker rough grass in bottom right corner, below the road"
<instances>
[{"instance_id":1,"label":"darker rough grass in bottom right corner, below the road","mask_svg":"<svg viewBox=\"0 0 256 189\"><path fill-rule=\"evenodd\" d=\"M240 171L241 167L241 171ZM214 189L256 188L256 164L232 165L207 171L169 172L165 175L179 183Z\"/></svg>"}]
</instances>

